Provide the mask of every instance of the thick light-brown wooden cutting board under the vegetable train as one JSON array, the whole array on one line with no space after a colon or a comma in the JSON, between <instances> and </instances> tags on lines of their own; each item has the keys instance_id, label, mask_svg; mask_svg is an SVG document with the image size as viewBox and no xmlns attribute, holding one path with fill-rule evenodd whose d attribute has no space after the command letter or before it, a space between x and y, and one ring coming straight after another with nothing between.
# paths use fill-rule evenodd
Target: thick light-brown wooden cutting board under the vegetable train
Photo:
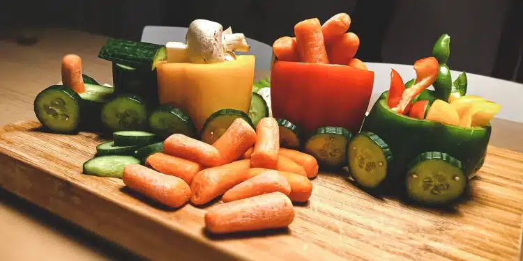
<instances>
[{"instance_id":1,"label":"thick light-brown wooden cutting board under the vegetable train","mask_svg":"<svg viewBox=\"0 0 523 261\"><path fill-rule=\"evenodd\" d=\"M321 173L288 230L209 235L205 208L163 209L116 178L82 175L103 140L49 134L38 122L0 129L0 186L152 260L517 260L523 154L490 147L471 200L454 209L374 198ZM218 202L219 203L219 202ZM217 203L214 203L217 204Z\"/></svg>"}]
</instances>

